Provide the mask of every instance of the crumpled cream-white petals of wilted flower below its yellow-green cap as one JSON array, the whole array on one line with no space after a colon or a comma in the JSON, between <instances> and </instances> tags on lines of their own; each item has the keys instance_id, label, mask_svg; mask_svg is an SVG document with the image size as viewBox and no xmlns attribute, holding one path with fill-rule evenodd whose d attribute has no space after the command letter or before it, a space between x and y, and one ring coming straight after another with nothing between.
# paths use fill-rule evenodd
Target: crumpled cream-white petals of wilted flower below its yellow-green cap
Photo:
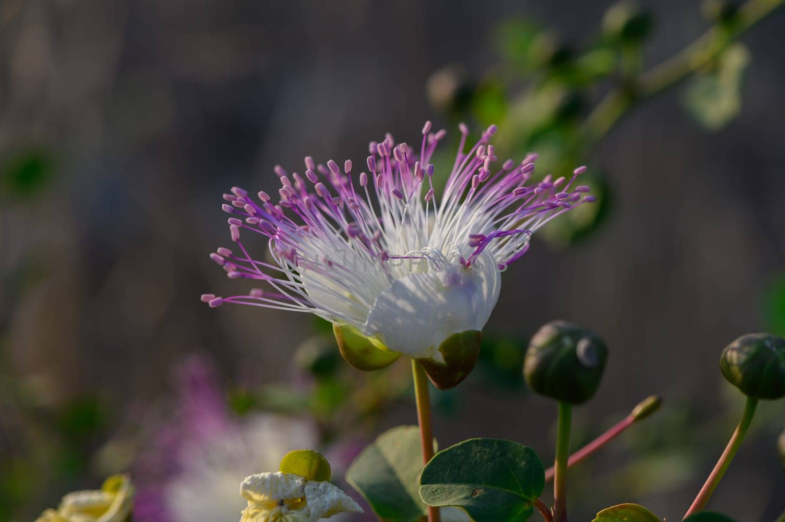
<instances>
[{"instance_id":1,"label":"crumpled cream-white petals of wilted flower below its yellow-green cap","mask_svg":"<svg viewBox=\"0 0 785 522\"><path fill-rule=\"evenodd\" d=\"M248 501L240 522L316 522L338 513L363 513L340 488L292 473L259 473L240 484Z\"/></svg>"}]
</instances>

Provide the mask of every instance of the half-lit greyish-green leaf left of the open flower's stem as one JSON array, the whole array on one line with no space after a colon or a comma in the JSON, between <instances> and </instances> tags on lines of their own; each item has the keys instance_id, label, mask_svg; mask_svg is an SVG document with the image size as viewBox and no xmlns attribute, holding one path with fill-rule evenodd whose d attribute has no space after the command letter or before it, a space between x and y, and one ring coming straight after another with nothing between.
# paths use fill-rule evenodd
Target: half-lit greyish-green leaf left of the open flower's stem
<instances>
[{"instance_id":1,"label":"half-lit greyish-green leaf left of the open flower's stem","mask_svg":"<svg viewBox=\"0 0 785 522\"><path fill-rule=\"evenodd\" d=\"M357 456L346 481L379 518L416 522L427 514L418 494L421 472L420 431L417 426L398 426L379 435Z\"/></svg>"}]
</instances>

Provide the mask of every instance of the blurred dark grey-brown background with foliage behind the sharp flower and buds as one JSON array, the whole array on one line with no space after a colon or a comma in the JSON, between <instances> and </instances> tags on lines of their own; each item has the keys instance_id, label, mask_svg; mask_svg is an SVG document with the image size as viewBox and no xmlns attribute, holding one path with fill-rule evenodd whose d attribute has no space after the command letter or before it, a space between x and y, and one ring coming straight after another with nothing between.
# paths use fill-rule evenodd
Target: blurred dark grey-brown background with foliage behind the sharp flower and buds
<instances>
[{"instance_id":1,"label":"blurred dark grey-brown background with foliage behind the sharp flower and buds","mask_svg":"<svg viewBox=\"0 0 785 522\"><path fill-rule=\"evenodd\" d=\"M495 122L502 154L539 150L558 175L589 165L601 193L503 275L480 366L433 393L441 447L509 438L552 459L555 408L520 364L541 324L574 321L611 350L575 448L651 393L666 404L572 473L571 518L619 502L684 513L743 404L721 349L785 335L785 11L586 137L608 89L728 15L641 5L0 2L0 520L129 469L148 502L137 520L224 520L188 506L221 503L199 473L247 465L236 451L310 442L340 473L382 430L414 424L406 361L361 374L312 317L199 295L246 292L208 258L231 242L229 187L274 190L273 165L302 172L305 155L361 165L368 141L414 142L428 119L450 132L445 157L458 121ZM270 416L283 414L297 418ZM782 511L783 429L785 403L761 404L712 509ZM223 430L240 441L221 435L210 455L234 464L188 471ZM277 466L270 451L257 466Z\"/></svg>"}]
</instances>

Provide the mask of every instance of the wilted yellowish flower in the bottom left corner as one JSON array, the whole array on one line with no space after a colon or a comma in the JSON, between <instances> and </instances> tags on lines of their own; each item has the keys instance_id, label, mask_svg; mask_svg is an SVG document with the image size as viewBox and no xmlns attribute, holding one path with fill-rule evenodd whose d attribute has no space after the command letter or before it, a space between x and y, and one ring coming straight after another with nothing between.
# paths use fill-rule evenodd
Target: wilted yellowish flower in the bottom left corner
<instances>
[{"instance_id":1,"label":"wilted yellowish flower in the bottom left corner","mask_svg":"<svg viewBox=\"0 0 785 522\"><path fill-rule=\"evenodd\" d=\"M126 522L133 506L133 485L125 475L104 480L100 490L74 491L57 509L46 509L36 522Z\"/></svg>"}]
</instances>

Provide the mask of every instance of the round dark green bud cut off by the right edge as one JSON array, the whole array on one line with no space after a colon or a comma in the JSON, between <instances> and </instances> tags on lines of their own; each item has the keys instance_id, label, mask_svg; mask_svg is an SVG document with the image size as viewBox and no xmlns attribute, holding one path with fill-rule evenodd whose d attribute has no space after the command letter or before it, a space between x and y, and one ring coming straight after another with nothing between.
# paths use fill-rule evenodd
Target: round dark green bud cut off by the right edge
<instances>
[{"instance_id":1,"label":"round dark green bud cut off by the right edge","mask_svg":"<svg viewBox=\"0 0 785 522\"><path fill-rule=\"evenodd\" d=\"M720 369L747 397L785 397L785 339L767 333L742 335L722 350Z\"/></svg>"}]
</instances>

